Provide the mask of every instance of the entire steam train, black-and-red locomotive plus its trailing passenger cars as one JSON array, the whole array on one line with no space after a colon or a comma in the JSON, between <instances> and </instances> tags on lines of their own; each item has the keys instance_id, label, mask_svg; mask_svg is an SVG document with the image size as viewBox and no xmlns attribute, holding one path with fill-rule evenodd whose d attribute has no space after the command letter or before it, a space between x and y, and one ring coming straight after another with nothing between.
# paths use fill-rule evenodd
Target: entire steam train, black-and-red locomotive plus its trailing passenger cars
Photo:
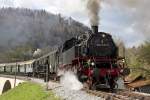
<instances>
[{"instance_id":1,"label":"entire steam train, black-and-red locomotive plus its trailing passenger cars","mask_svg":"<svg viewBox=\"0 0 150 100\"><path fill-rule=\"evenodd\" d=\"M114 89L124 69L123 58L119 58L118 47L110 34L98 32L98 26L92 26L92 30L91 34L73 37L53 52L30 62L1 65L5 72L7 68L12 71L16 65L18 72L44 77L45 81L59 79L65 71L72 71L88 88Z\"/></svg>"}]
</instances>

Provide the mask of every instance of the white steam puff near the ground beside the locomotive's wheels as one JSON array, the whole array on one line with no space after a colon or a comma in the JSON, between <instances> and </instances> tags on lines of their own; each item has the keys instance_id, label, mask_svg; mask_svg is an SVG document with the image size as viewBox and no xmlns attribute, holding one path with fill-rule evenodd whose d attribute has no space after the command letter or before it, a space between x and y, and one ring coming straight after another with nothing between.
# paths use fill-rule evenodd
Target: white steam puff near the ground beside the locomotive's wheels
<instances>
[{"instance_id":1,"label":"white steam puff near the ground beside the locomotive's wheels","mask_svg":"<svg viewBox=\"0 0 150 100\"><path fill-rule=\"evenodd\" d=\"M83 88L83 84L78 80L76 75L71 72L67 71L60 79L60 83L67 89L70 90L80 90Z\"/></svg>"}]
</instances>

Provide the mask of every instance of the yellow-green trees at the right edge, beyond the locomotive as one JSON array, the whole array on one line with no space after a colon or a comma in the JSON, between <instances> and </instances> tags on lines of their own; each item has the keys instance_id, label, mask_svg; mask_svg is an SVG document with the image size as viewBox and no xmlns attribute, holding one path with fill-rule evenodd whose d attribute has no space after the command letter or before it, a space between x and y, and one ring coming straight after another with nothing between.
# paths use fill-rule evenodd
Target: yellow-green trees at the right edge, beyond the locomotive
<instances>
[{"instance_id":1,"label":"yellow-green trees at the right edge, beyond the locomotive","mask_svg":"<svg viewBox=\"0 0 150 100\"><path fill-rule=\"evenodd\" d=\"M144 78L150 78L150 42L139 47L127 49L127 64L132 73L141 73Z\"/></svg>"}]
</instances>

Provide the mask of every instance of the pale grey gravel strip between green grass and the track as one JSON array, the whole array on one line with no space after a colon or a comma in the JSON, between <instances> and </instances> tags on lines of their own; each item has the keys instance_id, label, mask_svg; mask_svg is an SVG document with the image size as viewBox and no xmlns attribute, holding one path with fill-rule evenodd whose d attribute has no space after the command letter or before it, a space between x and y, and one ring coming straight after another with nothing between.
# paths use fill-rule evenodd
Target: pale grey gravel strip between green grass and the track
<instances>
[{"instance_id":1,"label":"pale grey gravel strip between green grass and the track","mask_svg":"<svg viewBox=\"0 0 150 100\"><path fill-rule=\"evenodd\" d=\"M101 97L87 94L82 90L70 90L63 87L59 83L49 82L48 89L52 90L57 96L63 100L104 100Z\"/></svg>"}]
</instances>

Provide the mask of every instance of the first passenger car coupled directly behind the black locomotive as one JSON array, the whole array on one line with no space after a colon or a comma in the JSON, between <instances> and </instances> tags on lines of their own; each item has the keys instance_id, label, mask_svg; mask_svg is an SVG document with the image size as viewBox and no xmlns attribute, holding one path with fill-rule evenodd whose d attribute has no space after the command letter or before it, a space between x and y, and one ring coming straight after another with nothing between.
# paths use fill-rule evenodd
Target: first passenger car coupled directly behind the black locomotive
<instances>
[{"instance_id":1,"label":"first passenger car coupled directly behind the black locomotive","mask_svg":"<svg viewBox=\"0 0 150 100\"><path fill-rule=\"evenodd\" d=\"M58 68L58 52L54 50L33 62L33 76L43 78L45 81L56 77Z\"/></svg>"}]
</instances>

